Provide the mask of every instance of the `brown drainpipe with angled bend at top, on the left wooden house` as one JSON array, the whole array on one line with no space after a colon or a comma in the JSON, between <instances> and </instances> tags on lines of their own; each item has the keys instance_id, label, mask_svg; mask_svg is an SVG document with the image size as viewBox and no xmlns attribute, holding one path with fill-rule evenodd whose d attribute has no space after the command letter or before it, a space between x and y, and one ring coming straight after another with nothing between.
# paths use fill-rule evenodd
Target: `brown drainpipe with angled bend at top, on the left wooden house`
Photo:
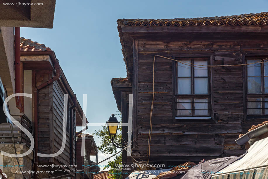
<instances>
[{"instance_id":1,"label":"brown drainpipe with angled bend at top, on the left wooden house","mask_svg":"<svg viewBox=\"0 0 268 179\"><path fill-rule=\"evenodd\" d=\"M60 78L62 73L60 73L61 70L59 61L54 64L54 68L56 69L56 76L34 88L34 171L37 171L38 168L38 90L48 86L49 84L53 83L53 81L56 81ZM37 172L34 174L34 178L38 178Z\"/></svg>"}]
</instances>

